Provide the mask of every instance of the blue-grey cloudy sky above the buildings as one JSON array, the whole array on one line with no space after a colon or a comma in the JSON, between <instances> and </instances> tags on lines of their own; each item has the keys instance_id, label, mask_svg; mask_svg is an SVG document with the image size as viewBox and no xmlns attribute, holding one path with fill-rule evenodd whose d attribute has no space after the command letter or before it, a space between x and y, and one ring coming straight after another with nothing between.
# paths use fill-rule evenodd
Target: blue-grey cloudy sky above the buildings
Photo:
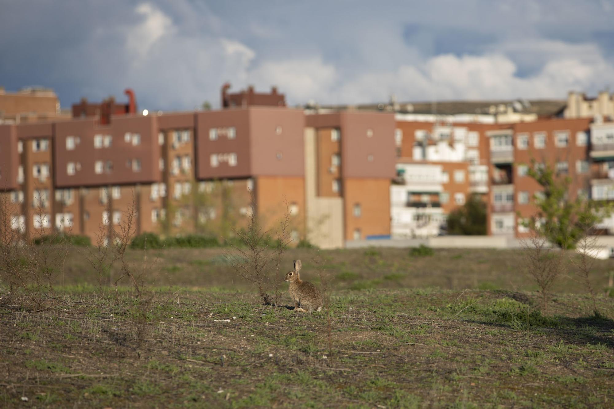
<instances>
[{"instance_id":1,"label":"blue-grey cloudy sky above the buildings","mask_svg":"<svg viewBox=\"0 0 614 409\"><path fill-rule=\"evenodd\" d=\"M564 99L614 86L614 0L0 0L0 86L139 109ZM613 90L614 91L614 90Z\"/></svg>"}]
</instances>

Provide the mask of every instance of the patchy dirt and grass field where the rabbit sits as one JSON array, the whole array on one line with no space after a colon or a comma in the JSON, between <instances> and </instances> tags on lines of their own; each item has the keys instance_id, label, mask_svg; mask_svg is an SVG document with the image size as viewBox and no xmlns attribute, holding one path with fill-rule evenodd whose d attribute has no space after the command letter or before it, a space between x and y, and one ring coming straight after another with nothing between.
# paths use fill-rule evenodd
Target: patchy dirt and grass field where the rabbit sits
<instances>
[{"instance_id":1,"label":"patchy dirt and grass field where the rabbit sits","mask_svg":"<svg viewBox=\"0 0 614 409\"><path fill-rule=\"evenodd\" d=\"M289 254L304 278L310 254ZM77 285L76 257L44 307L3 294L0 407L614 405L613 299L593 316L568 279L541 313L519 253L321 251L330 305L308 315L260 305L219 255L160 254L145 302Z\"/></svg>"}]
</instances>

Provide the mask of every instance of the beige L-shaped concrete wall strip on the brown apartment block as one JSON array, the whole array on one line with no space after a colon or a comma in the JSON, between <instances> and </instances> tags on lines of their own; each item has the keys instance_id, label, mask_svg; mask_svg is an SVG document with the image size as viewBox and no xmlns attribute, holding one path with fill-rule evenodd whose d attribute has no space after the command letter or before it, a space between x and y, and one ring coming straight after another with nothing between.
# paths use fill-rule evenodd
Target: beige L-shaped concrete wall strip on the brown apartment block
<instances>
[{"instance_id":1,"label":"beige L-shaped concrete wall strip on the brown apartment block","mask_svg":"<svg viewBox=\"0 0 614 409\"><path fill-rule=\"evenodd\" d=\"M344 243L343 198L317 196L316 129L305 128L305 211L309 242L321 248Z\"/></svg>"}]
</instances>

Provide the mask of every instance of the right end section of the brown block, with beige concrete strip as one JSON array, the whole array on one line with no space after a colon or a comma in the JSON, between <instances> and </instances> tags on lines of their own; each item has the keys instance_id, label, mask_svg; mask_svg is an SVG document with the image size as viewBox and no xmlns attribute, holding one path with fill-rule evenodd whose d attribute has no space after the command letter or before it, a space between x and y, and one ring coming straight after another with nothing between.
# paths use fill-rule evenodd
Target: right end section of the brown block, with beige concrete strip
<instances>
[{"instance_id":1,"label":"right end section of the brown block, with beige concrete strip","mask_svg":"<svg viewBox=\"0 0 614 409\"><path fill-rule=\"evenodd\" d=\"M390 235L394 115L306 115L306 232L321 247Z\"/></svg>"}]
</instances>

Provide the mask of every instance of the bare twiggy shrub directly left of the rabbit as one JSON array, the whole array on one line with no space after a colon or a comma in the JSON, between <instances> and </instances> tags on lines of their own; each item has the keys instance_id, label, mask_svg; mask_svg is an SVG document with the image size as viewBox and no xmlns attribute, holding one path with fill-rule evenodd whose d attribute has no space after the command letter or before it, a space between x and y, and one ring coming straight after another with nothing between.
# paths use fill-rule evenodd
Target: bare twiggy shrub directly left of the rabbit
<instances>
[{"instance_id":1,"label":"bare twiggy shrub directly left of the rabbit","mask_svg":"<svg viewBox=\"0 0 614 409\"><path fill-rule=\"evenodd\" d=\"M254 283L265 305L276 305L281 299L281 262L291 235L289 207L287 201L284 203L286 213L279 221L279 226L265 231L258 220L256 201L252 194L247 229L233 229L241 245L230 242L231 251L225 254L239 277Z\"/></svg>"}]
</instances>

